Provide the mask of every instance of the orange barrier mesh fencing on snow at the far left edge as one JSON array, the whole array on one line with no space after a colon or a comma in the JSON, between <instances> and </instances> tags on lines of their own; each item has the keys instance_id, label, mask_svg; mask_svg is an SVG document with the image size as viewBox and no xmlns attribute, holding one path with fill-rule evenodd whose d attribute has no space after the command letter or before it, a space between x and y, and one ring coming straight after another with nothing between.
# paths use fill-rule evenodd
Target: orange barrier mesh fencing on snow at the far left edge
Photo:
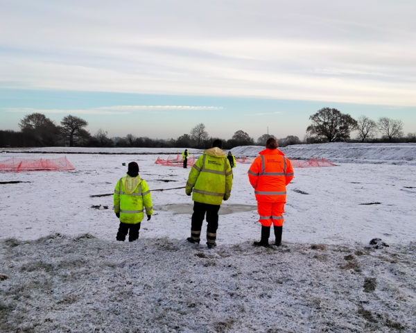
<instances>
[{"instance_id":1,"label":"orange barrier mesh fencing on snow at the far left edge","mask_svg":"<svg viewBox=\"0 0 416 333\"><path fill-rule=\"evenodd\" d=\"M0 171L3 172L25 172L25 171L67 171L75 170L67 157L55 158L53 160L29 159L12 157L0 161Z\"/></svg>"}]
</instances>

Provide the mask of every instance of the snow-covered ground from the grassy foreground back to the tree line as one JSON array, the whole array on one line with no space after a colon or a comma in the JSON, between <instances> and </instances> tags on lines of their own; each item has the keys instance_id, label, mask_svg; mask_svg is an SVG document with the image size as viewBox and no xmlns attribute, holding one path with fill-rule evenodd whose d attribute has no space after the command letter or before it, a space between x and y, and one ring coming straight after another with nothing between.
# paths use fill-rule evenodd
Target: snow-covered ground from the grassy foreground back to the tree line
<instances>
[{"instance_id":1,"label":"snow-covered ground from the grassy foreground back to the tree line","mask_svg":"<svg viewBox=\"0 0 416 333\"><path fill-rule=\"evenodd\" d=\"M0 173L0 332L415 332L416 146L281 150L338 166L295 169L283 245L265 249L252 246L250 164L238 164L208 250L185 241L192 201L172 189L189 169L155 164L181 149L0 149L0 160L63 152L76 168ZM90 195L112 193L132 160L155 214L129 244L114 240L112 196Z\"/></svg>"}]
</instances>

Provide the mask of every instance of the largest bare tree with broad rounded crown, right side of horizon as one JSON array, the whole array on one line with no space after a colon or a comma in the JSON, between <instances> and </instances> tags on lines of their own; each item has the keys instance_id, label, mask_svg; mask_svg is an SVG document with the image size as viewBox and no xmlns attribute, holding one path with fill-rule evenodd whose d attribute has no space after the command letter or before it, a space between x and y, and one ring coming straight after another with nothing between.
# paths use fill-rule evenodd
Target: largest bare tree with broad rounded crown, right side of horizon
<instances>
[{"instance_id":1,"label":"largest bare tree with broad rounded crown, right side of horizon","mask_svg":"<svg viewBox=\"0 0 416 333\"><path fill-rule=\"evenodd\" d=\"M328 142L346 141L349 133L357 126L357 121L349 114L331 108L322 108L309 119L312 124L306 128L306 133Z\"/></svg>"}]
</instances>

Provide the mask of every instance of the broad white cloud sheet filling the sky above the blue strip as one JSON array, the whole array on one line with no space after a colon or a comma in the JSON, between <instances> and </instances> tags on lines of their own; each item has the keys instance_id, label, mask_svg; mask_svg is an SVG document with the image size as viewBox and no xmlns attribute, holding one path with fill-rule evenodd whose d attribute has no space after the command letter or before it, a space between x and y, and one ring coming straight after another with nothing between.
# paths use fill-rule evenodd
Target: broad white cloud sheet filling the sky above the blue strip
<instances>
[{"instance_id":1,"label":"broad white cloud sheet filling the sky above the blue strip","mask_svg":"<svg viewBox=\"0 0 416 333\"><path fill-rule=\"evenodd\" d=\"M10 2L0 87L416 105L411 1L240 2Z\"/></svg>"}]
</instances>

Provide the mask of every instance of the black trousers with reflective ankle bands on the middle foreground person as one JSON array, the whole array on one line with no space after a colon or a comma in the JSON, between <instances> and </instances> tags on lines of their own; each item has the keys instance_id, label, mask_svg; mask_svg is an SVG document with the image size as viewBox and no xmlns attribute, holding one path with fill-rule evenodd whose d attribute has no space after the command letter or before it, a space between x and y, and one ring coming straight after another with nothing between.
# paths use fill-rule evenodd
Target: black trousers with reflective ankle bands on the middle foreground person
<instances>
[{"instance_id":1,"label":"black trousers with reflective ankle bands on the middle foreground person","mask_svg":"<svg viewBox=\"0 0 416 333\"><path fill-rule=\"evenodd\" d=\"M202 222L207 214L207 243L215 243L216 230L218 229L218 210L220 205L209 205L209 203L193 202L193 214L191 218L191 237L199 241Z\"/></svg>"}]
</instances>

